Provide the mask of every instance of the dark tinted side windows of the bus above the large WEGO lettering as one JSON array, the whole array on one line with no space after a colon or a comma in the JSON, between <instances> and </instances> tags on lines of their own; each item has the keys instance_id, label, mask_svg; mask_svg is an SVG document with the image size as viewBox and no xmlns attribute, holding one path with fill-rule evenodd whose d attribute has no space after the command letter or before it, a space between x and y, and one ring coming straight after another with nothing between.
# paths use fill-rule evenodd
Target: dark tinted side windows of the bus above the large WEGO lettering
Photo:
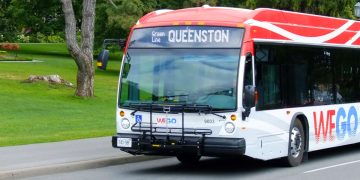
<instances>
[{"instance_id":1,"label":"dark tinted side windows of the bus above the large WEGO lettering","mask_svg":"<svg viewBox=\"0 0 360 180\"><path fill-rule=\"evenodd\" d=\"M256 46L257 109L360 101L360 51Z\"/></svg>"}]
</instances>

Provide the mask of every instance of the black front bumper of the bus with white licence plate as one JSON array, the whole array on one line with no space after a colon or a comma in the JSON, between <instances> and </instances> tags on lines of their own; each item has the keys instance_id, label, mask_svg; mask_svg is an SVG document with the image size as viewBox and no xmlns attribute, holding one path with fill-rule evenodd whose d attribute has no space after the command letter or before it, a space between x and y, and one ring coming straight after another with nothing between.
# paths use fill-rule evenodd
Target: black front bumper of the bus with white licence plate
<instances>
[{"instance_id":1,"label":"black front bumper of the bus with white licence plate","mask_svg":"<svg viewBox=\"0 0 360 180\"><path fill-rule=\"evenodd\" d=\"M131 138L131 147L119 147L119 138ZM117 134L112 137L114 148L131 154L177 155L196 153L200 156L243 155L246 149L243 138L205 136Z\"/></svg>"}]
</instances>

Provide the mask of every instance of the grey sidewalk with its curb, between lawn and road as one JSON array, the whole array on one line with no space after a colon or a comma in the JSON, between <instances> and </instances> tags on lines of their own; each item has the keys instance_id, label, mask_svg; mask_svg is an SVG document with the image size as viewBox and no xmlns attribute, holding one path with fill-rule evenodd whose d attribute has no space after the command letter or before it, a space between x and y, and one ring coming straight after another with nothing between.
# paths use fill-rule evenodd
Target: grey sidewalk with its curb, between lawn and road
<instances>
[{"instance_id":1,"label":"grey sidewalk with its curb, between lawn and road","mask_svg":"<svg viewBox=\"0 0 360 180\"><path fill-rule=\"evenodd\" d=\"M99 168L155 159L115 149L111 137L0 148L0 179Z\"/></svg>"}]
</instances>

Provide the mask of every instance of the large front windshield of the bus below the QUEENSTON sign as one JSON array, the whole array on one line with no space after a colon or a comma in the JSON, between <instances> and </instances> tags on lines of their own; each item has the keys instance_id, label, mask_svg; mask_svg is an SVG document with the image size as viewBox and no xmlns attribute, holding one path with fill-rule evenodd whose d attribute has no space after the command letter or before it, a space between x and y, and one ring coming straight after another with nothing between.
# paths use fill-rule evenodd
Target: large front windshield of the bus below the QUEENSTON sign
<instances>
[{"instance_id":1,"label":"large front windshield of the bus below the QUEENSTON sign","mask_svg":"<svg viewBox=\"0 0 360 180\"><path fill-rule=\"evenodd\" d=\"M237 38L241 42L241 36ZM167 48L159 44L149 47L133 39L124 58L120 107L179 103L207 105L215 111L236 109L241 43L231 48L212 44ZM136 47L137 43L146 47Z\"/></svg>"}]
</instances>

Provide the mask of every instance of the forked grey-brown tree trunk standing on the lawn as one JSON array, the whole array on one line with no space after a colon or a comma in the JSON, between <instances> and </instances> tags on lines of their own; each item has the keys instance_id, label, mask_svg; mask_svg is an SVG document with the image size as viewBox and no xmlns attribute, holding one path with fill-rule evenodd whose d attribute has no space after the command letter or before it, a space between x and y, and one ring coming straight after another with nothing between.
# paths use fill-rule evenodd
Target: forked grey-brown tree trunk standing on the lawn
<instances>
[{"instance_id":1,"label":"forked grey-brown tree trunk standing on the lawn","mask_svg":"<svg viewBox=\"0 0 360 180\"><path fill-rule=\"evenodd\" d=\"M83 0L80 45L76 40L77 29L72 1L61 0L61 2L65 16L66 44L78 68L75 95L92 97L94 96L94 66L92 61L96 0Z\"/></svg>"}]
</instances>

